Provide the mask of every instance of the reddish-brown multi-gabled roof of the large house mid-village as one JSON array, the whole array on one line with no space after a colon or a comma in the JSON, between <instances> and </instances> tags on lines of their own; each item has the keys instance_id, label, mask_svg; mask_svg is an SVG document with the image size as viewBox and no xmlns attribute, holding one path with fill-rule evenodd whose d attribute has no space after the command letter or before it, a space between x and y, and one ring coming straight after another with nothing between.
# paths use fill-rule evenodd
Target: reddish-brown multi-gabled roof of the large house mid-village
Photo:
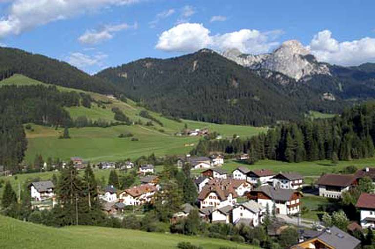
<instances>
[{"instance_id":1,"label":"reddish-brown multi-gabled roof of the large house mid-village","mask_svg":"<svg viewBox=\"0 0 375 249\"><path fill-rule=\"evenodd\" d=\"M212 179L208 184L203 187L202 191L198 195L199 200L204 200L209 193L215 192L220 200L226 200L229 196L229 193L233 197L237 197L237 192L235 191L238 186L242 183L246 183L245 180L233 180L233 179Z\"/></svg>"}]
</instances>

